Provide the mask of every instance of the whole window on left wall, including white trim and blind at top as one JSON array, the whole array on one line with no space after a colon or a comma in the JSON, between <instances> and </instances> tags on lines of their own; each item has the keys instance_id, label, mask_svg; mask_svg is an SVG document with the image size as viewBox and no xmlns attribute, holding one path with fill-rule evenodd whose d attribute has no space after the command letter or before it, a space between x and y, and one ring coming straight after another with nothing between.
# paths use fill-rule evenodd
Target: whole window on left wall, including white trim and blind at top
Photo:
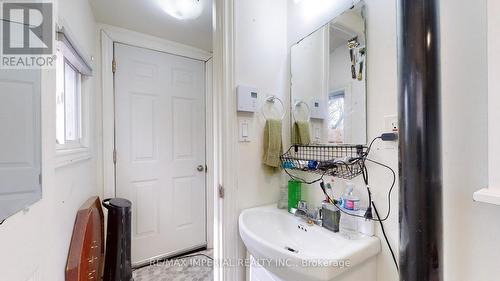
<instances>
[{"instance_id":1,"label":"whole window on left wall, including white trim and blind at top","mask_svg":"<svg viewBox=\"0 0 500 281\"><path fill-rule=\"evenodd\" d=\"M56 166L90 158L89 98L92 69L63 32L57 34Z\"/></svg>"}]
</instances>

